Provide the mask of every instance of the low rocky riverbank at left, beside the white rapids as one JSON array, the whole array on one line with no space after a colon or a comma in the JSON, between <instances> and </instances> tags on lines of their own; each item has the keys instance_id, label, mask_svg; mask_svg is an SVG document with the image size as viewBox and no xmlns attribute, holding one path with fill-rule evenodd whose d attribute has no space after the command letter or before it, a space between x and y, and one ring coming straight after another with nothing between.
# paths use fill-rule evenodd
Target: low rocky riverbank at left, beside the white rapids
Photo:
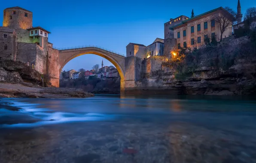
<instances>
[{"instance_id":1,"label":"low rocky riverbank at left, beside the white rapids","mask_svg":"<svg viewBox=\"0 0 256 163\"><path fill-rule=\"evenodd\" d=\"M85 98L94 94L74 88L34 88L21 84L0 83L0 97Z\"/></svg>"}]
</instances>

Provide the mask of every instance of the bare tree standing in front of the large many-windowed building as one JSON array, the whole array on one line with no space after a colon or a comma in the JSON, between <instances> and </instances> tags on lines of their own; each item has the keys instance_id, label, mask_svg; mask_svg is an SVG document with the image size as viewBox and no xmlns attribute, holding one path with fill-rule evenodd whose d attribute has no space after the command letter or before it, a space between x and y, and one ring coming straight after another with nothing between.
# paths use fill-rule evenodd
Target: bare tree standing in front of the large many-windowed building
<instances>
[{"instance_id":1,"label":"bare tree standing in front of the large many-windowed building","mask_svg":"<svg viewBox=\"0 0 256 163\"><path fill-rule=\"evenodd\" d=\"M220 41L222 41L223 33L227 29L232 28L235 18L231 13L222 13L222 12L216 13L215 15L213 15L213 18L217 23L219 23Z\"/></svg>"}]
</instances>

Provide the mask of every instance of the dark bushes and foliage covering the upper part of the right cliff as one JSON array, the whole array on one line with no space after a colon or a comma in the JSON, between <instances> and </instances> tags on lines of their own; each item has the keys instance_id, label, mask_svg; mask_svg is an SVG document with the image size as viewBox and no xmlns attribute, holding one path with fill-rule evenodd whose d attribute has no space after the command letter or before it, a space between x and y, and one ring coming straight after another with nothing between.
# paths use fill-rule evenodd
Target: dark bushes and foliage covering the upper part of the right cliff
<instances>
[{"instance_id":1,"label":"dark bushes and foliage covering the upper part of the right cliff","mask_svg":"<svg viewBox=\"0 0 256 163\"><path fill-rule=\"evenodd\" d=\"M223 72L237 63L256 62L256 30L240 39L217 44L213 39L201 48L181 48L168 64L176 69L175 78L184 79L202 67Z\"/></svg>"}]
</instances>

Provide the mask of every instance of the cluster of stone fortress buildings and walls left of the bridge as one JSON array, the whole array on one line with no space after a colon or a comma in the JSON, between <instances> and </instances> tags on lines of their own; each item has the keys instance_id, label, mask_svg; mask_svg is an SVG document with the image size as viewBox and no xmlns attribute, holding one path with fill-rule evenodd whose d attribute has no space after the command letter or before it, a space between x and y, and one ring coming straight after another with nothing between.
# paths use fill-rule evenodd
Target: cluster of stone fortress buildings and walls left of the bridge
<instances>
[{"instance_id":1,"label":"cluster of stone fortress buildings and walls left of the bridge","mask_svg":"<svg viewBox=\"0 0 256 163\"><path fill-rule=\"evenodd\" d=\"M58 86L58 50L48 42L50 32L33 27L33 13L21 7L3 11L3 27L0 27L0 59L11 59L32 66L47 75L52 85ZM49 68L51 67L51 68Z\"/></svg>"}]
</instances>

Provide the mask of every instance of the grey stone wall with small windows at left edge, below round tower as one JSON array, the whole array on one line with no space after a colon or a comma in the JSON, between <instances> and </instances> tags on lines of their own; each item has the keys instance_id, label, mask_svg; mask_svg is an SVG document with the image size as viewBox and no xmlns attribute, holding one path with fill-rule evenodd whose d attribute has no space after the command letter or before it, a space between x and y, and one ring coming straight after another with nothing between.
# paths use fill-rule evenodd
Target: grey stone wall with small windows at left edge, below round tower
<instances>
[{"instance_id":1,"label":"grey stone wall with small windows at left edge, below round tower","mask_svg":"<svg viewBox=\"0 0 256 163\"><path fill-rule=\"evenodd\" d=\"M8 28L0 27L0 58L16 59L16 34Z\"/></svg>"}]
</instances>

